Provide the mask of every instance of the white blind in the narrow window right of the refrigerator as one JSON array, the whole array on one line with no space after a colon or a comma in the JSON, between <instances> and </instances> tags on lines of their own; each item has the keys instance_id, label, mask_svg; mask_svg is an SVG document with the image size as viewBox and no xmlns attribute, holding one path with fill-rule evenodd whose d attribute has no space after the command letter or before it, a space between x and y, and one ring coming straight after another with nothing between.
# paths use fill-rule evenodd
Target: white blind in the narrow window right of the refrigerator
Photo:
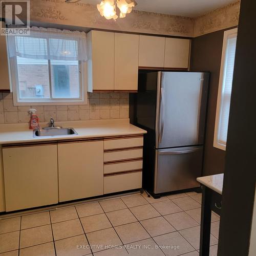
<instances>
[{"instance_id":1,"label":"white blind in the narrow window right of the refrigerator","mask_svg":"<svg viewBox=\"0 0 256 256\"><path fill-rule=\"evenodd\" d=\"M230 98L233 81L234 57L236 55L237 35L231 34L227 39L225 64L223 69L221 106L219 114L218 143L226 145L228 119L230 109Z\"/></svg>"}]
</instances>

